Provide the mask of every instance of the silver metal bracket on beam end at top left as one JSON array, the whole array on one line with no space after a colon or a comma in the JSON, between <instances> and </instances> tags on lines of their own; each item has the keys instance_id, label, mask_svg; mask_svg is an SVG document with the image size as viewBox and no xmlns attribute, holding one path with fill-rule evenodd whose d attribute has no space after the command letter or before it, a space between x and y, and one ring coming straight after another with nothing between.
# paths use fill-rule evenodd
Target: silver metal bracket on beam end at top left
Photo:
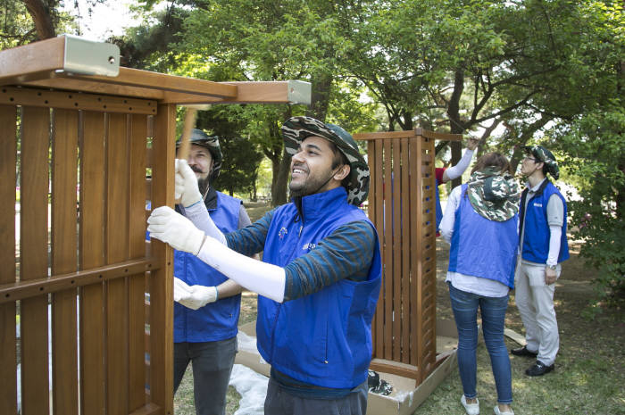
<instances>
[{"instance_id":1,"label":"silver metal bracket on beam end at top left","mask_svg":"<svg viewBox=\"0 0 625 415\"><path fill-rule=\"evenodd\" d=\"M63 72L116 77L120 73L120 47L81 37L65 37Z\"/></svg>"}]
</instances>

